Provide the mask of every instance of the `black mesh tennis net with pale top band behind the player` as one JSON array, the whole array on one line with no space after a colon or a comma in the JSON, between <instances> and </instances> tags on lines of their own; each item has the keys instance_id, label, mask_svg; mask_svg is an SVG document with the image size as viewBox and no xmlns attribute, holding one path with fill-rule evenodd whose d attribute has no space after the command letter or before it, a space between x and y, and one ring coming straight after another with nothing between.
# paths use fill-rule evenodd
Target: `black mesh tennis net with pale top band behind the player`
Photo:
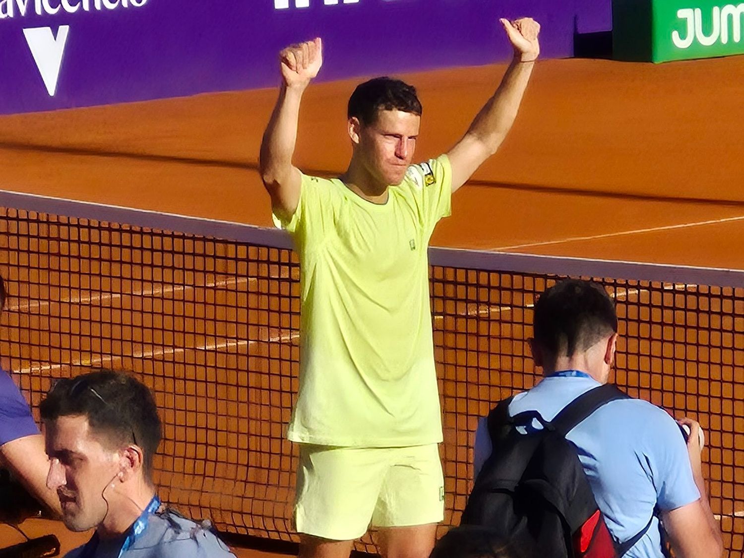
<instances>
[{"instance_id":1,"label":"black mesh tennis net with pale top band behind the player","mask_svg":"<svg viewBox=\"0 0 744 558\"><path fill-rule=\"evenodd\" d=\"M38 404L89 367L155 393L162 498L219 530L295 540L299 269L280 231L0 192L9 297L0 355ZM432 248L446 525L472 486L472 437L536 382L531 308L565 276L600 280L620 319L615 382L708 434L728 556L744 555L744 272ZM375 551L370 536L359 550Z\"/></svg>"}]
</instances>

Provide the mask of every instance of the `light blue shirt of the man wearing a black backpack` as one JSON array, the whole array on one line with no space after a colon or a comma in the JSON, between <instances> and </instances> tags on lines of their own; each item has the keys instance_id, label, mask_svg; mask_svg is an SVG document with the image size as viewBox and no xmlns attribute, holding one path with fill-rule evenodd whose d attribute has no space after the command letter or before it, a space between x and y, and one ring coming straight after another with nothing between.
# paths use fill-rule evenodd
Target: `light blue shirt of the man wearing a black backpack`
<instances>
[{"instance_id":1,"label":"light blue shirt of the man wearing a black backpack","mask_svg":"<svg viewBox=\"0 0 744 558\"><path fill-rule=\"evenodd\" d=\"M600 385L585 374L549 376L517 394L509 414L539 411L545 420ZM617 400L603 405L566 436L578 449L594 499L613 536L626 541L646 527L654 507L674 510L700 498L679 426L647 401ZM475 432L475 475L491 454L485 418ZM663 558L658 521L626 554Z\"/></svg>"}]
</instances>

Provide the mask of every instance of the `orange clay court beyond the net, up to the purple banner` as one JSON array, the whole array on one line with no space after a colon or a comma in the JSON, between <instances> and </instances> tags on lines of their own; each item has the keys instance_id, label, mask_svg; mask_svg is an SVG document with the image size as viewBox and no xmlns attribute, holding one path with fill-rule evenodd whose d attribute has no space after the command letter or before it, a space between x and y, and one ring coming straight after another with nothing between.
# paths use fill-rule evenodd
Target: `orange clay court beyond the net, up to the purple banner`
<instances>
[{"instance_id":1,"label":"orange clay court beyond the net, up to the purple banner","mask_svg":"<svg viewBox=\"0 0 744 558\"><path fill-rule=\"evenodd\" d=\"M419 158L447 150L504 67L411 74ZM743 269L744 57L545 60L506 143L434 244ZM358 80L314 85L296 164L339 173ZM276 92L0 118L1 187L270 225L257 153Z\"/></svg>"}]
</instances>

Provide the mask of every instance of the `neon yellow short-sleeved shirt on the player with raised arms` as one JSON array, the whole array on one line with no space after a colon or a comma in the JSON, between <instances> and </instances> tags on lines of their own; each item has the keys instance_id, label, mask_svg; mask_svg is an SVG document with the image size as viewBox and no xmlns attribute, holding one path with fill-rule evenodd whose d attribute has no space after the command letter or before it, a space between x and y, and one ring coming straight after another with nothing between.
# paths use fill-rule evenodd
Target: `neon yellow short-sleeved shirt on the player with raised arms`
<instances>
[{"instance_id":1,"label":"neon yellow short-sleeved shirt on the player with raised arms","mask_svg":"<svg viewBox=\"0 0 744 558\"><path fill-rule=\"evenodd\" d=\"M442 155L376 205L302 177L289 222L300 257L300 386L289 440L399 447L442 440L426 248L450 213Z\"/></svg>"}]
</instances>

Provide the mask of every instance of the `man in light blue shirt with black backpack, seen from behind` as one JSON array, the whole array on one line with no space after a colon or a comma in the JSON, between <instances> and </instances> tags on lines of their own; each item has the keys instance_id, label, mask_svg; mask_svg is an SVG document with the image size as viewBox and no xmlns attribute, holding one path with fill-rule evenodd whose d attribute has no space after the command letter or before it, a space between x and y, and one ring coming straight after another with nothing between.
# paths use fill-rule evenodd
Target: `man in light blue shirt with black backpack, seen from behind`
<instances>
[{"instance_id":1,"label":"man in light blue shirt with black backpack, seen from behind","mask_svg":"<svg viewBox=\"0 0 744 558\"><path fill-rule=\"evenodd\" d=\"M720 557L699 425L607 384L618 318L605 289L560 281L536 302L533 329L545 377L479 423L463 524L541 558L662 558L667 544L676 558Z\"/></svg>"}]
</instances>

